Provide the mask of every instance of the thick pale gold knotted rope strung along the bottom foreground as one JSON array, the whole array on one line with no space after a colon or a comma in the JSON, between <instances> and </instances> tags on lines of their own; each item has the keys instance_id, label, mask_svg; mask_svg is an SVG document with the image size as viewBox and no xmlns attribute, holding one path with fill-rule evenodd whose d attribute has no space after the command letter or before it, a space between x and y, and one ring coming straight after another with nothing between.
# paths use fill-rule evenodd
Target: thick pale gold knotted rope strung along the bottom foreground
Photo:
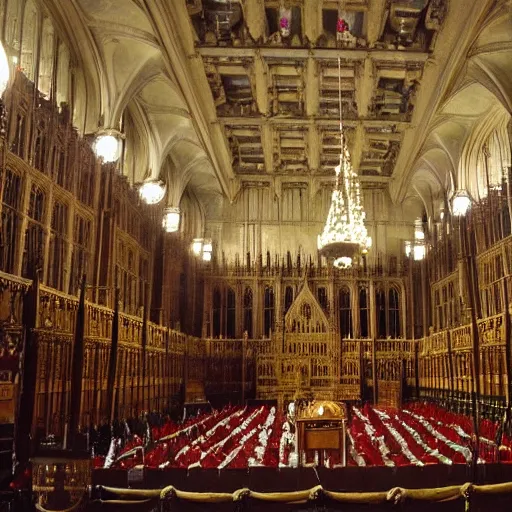
<instances>
[{"instance_id":1,"label":"thick pale gold knotted rope strung along the bottom foreground","mask_svg":"<svg viewBox=\"0 0 512 512\"><path fill-rule=\"evenodd\" d=\"M470 495L497 495L512 494L512 482L490 485L473 485L465 483L463 485L452 485L450 487L437 487L432 489L404 489L394 487L387 492L334 492L325 490L321 485L311 489L292 492L256 492L250 489L238 489L233 493L211 493L211 492L189 492L180 491L169 485L163 489L120 489L116 487L98 486L117 498L128 498L130 503L134 499L150 500L160 498L167 500L171 497L194 503L228 503L239 502L246 498L251 498L269 503L298 504L307 501L316 501L321 495L340 503L352 504L382 504L391 502L393 504L403 503L405 500L411 501L429 501L443 502L463 498L466 501ZM102 500L106 502L105 500ZM112 500L113 501L113 500ZM111 503L112 501L108 501ZM118 503L128 503L117 500Z\"/></svg>"}]
</instances>

